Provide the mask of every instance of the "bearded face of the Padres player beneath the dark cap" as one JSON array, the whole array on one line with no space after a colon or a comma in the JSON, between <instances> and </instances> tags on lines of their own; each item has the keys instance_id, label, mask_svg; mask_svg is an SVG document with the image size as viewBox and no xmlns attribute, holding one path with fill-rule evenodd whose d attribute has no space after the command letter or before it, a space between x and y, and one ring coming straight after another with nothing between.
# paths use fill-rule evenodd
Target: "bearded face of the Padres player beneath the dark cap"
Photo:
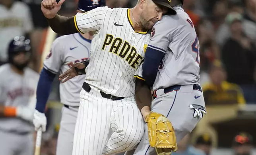
<instances>
[{"instance_id":1,"label":"bearded face of the Padres player beneath the dark cap","mask_svg":"<svg viewBox=\"0 0 256 155\"><path fill-rule=\"evenodd\" d=\"M149 30L155 25L155 23L157 23L157 21L161 20L165 13L167 13L166 8L160 8L152 1L148 2L145 9L142 11L140 22L145 29Z\"/></svg>"}]
</instances>

